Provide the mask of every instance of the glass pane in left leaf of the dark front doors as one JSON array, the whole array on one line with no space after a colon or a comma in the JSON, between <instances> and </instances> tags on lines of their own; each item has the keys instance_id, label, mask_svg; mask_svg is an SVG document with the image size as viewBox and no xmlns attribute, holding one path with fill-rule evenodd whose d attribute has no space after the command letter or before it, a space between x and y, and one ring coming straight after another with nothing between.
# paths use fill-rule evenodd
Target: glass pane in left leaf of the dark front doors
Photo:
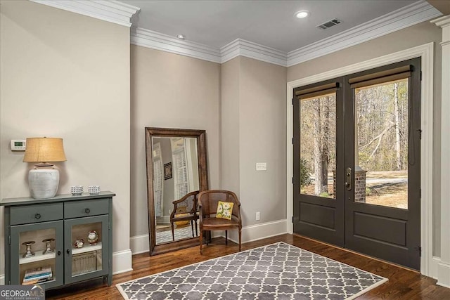
<instances>
[{"instance_id":1,"label":"glass pane in left leaf of the dark front doors","mask_svg":"<svg viewBox=\"0 0 450 300\"><path fill-rule=\"evenodd\" d=\"M335 198L336 95L300 100L300 193Z\"/></svg>"}]
</instances>

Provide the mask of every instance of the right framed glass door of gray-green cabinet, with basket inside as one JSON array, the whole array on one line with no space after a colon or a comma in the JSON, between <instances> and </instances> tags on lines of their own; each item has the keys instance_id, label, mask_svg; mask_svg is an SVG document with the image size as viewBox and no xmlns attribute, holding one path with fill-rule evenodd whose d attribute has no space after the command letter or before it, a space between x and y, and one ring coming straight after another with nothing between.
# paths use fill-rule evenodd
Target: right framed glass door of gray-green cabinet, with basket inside
<instances>
[{"instance_id":1,"label":"right framed glass door of gray-green cabinet, with basket inside","mask_svg":"<svg viewBox=\"0 0 450 300\"><path fill-rule=\"evenodd\" d=\"M108 216L64 221L65 283L108 275Z\"/></svg>"}]
</instances>

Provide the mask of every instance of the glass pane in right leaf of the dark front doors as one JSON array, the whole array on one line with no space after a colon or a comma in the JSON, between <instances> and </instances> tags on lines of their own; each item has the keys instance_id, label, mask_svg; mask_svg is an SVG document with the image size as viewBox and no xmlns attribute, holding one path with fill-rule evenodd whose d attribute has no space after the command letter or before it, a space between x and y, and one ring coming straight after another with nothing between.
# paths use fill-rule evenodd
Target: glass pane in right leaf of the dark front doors
<instances>
[{"instance_id":1,"label":"glass pane in right leaf of the dark front doors","mask_svg":"<svg viewBox=\"0 0 450 300\"><path fill-rule=\"evenodd\" d=\"M408 79L355 89L355 202L408 209Z\"/></svg>"}]
</instances>

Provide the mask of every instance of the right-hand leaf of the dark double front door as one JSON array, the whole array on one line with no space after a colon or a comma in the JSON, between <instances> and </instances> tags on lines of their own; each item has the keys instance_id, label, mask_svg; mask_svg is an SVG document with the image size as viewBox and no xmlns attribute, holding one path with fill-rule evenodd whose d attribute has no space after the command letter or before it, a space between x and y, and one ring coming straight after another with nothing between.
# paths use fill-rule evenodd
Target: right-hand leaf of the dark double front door
<instances>
[{"instance_id":1,"label":"right-hand leaf of the dark double front door","mask_svg":"<svg viewBox=\"0 0 450 300\"><path fill-rule=\"evenodd\" d=\"M358 88L349 86L345 91L345 105L352 107L345 115L345 164L367 175L352 174L356 186L345 192L345 247L418 270L420 58L352 74L345 77L345 81L398 70L402 66L410 70L406 78L399 75L394 80L390 77L387 82L380 78L375 80L378 81L375 85L362 83ZM364 90L375 91L366 98L370 103L366 107L371 107L373 112L361 114L358 105L364 103L358 99L358 93ZM363 118L374 124L372 132L364 133L365 141L361 143L364 138L358 131ZM374 138L375 145L368 145ZM368 150L365 145L372 148ZM359 180L355 181L355 177ZM363 197L359 190L366 191ZM378 195L371 195L373 190L378 190ZM380 197L383 193L386 197Z\"/></svg>"}]
</instances>

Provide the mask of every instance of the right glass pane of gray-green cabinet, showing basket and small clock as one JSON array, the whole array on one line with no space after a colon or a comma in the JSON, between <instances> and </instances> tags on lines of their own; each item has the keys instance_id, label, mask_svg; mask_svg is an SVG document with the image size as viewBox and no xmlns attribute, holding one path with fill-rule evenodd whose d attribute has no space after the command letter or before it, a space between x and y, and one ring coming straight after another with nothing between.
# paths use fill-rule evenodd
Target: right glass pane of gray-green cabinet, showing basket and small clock
<instances>
[{"instance_id":1,"label":"right glass pane of gray-green cabinet, showing basket and small clock","mask_svg":"<svg viewBox=\"0 0 450 300\"><path fill-rule=\"evenodd\" d=\"M72 276L102 269L101 222L72 226Z\"/></svg>"}]
</instances>

